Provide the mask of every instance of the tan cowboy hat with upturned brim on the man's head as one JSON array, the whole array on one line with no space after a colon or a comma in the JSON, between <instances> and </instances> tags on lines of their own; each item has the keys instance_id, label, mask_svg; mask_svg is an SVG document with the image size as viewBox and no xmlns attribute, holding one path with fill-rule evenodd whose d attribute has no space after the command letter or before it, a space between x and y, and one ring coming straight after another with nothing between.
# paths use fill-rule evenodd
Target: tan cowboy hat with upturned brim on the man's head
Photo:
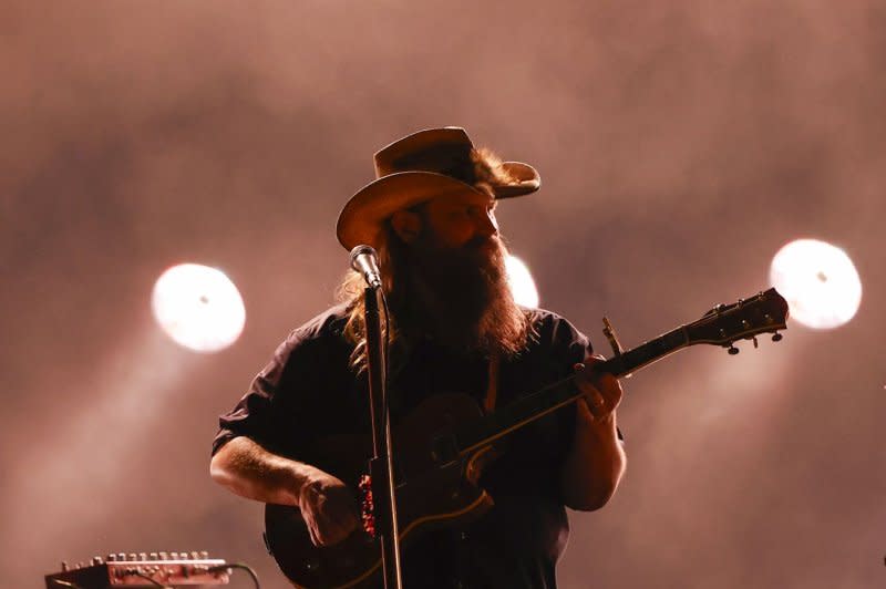
<instances>
[{"instance_id":1,"label":"tan cowboy hat with upturned brim on the man's head","mask_svg":"<svg viewBox=\"0 0 886 589\"><path fill-rule=\"evenodd\" d=\"M475 149L461 127L427 128L393 142L375 154L375 178L341 209L336 234L346 249L378 247L387 218L431 198L465 190L486 196L481 186L496 199L511 198L542 186L534 167Z\"/></svg>"}]
</instances>

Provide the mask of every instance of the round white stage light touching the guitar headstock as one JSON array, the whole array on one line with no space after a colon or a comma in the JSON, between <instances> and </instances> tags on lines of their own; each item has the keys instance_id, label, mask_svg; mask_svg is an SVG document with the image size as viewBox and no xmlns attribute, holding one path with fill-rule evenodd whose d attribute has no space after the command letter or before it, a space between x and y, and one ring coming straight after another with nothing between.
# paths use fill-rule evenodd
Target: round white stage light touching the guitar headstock
<instances>
[{"instance_id":1,"label":"round white stage light touching the guitar headstock","mask_svg":"<svg viewBox=\"0 0 886 589\"><path fill-rule=\"evenodd\" d=\"M817 239L797 239L780 249L770 281L787 300L791 318L814 329L847 323L862 302L862 281L849 257Z\"/></svg>"}]
</instances>

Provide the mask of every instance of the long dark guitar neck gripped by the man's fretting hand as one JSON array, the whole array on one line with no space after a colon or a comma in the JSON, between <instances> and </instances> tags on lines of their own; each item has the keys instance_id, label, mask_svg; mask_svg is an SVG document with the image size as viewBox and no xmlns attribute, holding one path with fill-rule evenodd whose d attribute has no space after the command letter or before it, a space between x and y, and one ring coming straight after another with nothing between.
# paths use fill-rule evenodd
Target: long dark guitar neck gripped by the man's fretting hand
<instances>
[{"instance_id":1,"label":"long dark guitar neck gripped by the man's fretting hand","mask_svg":"<svg viewBox=\"0 0 886 589\"><path fill-rule=\"evenodd\" d=\"M615 376L627 376L652 362L690 345L686 327L681 326L658 338L597 364L597 370ZM567 376L514 403L496 409L491 415L466 423L455 432L461 453L490 444L511 432L547 415L581 396L573 385L576 375Z\"/></svg>"}]
</instances>

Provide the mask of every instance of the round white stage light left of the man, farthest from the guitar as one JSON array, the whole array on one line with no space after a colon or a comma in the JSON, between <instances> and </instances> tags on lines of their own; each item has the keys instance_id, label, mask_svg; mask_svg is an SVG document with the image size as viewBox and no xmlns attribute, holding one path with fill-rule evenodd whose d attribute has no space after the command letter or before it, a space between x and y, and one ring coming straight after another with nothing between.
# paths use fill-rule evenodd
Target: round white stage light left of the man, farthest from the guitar
<instances>
[{"instance_id":1,"label":"round white stage light left of the man, farthest from the guitar","mask_svg":"<svg viewBox=\"0 0 886 589\"><path fill-rule=\"evenodd\" d=\"M240 337L246 309L237 287L220 270L173 266L157 279L151 307L163 331L196 352L224 350Z\"/></svg>"}]
</instances>

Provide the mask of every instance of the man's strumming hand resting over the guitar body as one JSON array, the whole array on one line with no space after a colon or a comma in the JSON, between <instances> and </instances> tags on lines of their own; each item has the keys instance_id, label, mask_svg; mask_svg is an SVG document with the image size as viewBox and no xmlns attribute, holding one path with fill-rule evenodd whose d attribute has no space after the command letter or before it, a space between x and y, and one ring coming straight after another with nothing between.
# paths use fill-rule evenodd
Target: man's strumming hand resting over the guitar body
<instances>
[{"instance_id":1,"label":"man's strumming hand resting over the guitar body","mask_svg":"<svg viewBox=\"0 0 886 589\"><path fill-rule=\"evenodd\" d=\"M342 541L360 523L353 493L334 476L316 468L301 485L298 506L315 546Z\"/></svg>"}]
</instances>

